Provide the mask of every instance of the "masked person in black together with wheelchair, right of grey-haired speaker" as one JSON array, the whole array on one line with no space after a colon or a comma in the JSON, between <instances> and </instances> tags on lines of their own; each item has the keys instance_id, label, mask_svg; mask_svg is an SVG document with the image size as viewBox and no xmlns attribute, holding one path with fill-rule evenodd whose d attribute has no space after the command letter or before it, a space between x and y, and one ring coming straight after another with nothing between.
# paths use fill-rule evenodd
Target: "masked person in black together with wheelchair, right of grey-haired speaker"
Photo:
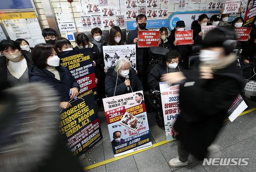
<instances>
[{"instance_id":1,"label":"masked person in black together with wheelchair, right of grey-haired speaker","mask_svg":"<svg viewBox=\"0 0 256 172\"><path fill-rule=\"evenodd\" d=\"M149 86L149 104L152 109L156 111L156 123L159 127L164 127L163 120L163 109L161 103L161 93L159 82L160 78L165 73L182 71L181 66L179 65L179 59L181 55L175 51L170 51L167 55L161 57L159 62L155 64L152 69L150 69L147 83Z\"/></svg>"}]
</instances>

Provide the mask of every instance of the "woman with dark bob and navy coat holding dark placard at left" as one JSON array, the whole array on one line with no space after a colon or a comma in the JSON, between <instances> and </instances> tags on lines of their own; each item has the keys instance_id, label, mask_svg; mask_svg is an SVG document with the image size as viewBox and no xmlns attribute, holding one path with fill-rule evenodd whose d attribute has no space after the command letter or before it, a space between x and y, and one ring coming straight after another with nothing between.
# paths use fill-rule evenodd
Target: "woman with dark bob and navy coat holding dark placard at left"
<instances>
[{"instance_id":1,"label":"woman with dark bob and navy coat holding dark placard at left","mask_svg":"<svg viewBox=\"0 0 256 172\"><path fill-rule=\"evenodd\" d=\"M68 101L79 94L80 87L70 71L60 66L54 47L46 43L37 44L32 51L32 60L34 66L29 69L29 81L53 86L60 96L60 108L69 108L71 104Z\"/></svg>"}]
</instances>

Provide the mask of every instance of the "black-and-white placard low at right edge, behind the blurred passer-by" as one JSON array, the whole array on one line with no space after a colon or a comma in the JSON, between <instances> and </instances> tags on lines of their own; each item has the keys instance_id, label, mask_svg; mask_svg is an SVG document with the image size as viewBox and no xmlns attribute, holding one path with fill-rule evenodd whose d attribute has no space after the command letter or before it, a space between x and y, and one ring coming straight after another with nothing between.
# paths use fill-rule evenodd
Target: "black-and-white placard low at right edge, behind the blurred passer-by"
<instances>
[{"instance_id":1,"label":"black-and-white placard low at right edge, behind the blurred passer-by","mask_svg":"<svg viewBox=\"0 0 256 172\"><path fill-rule=\"evenodd\" d=\"M228 118L231 122L237 118L248 106L244 102L244 99L240 94L235 98L235 101L231 104L230 108L228 109Z\"/></svg>"}]
</instances>

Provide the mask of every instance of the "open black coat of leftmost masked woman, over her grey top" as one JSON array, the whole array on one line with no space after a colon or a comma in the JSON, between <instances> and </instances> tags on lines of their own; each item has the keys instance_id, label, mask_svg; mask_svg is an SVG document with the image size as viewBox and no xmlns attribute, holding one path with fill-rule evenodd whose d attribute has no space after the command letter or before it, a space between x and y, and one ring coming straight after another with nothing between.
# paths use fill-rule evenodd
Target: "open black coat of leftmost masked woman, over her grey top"
<instances>
[{"instance_id":1,"label":"open black coat of leftmost masked woman, over her grey top","mask_svg":"<svg viewBox=\"0 0 256 172\"><path fill-rule=\"evenodd\" d=\"M30 68L33 64L31 59L31 53L27 50L21 50L22 55L25 57L27 66ZM7 59L5 56L0 57L0 90L6 89L10 87L9 83L7 82Z\"/></svg>"}]
</instances>

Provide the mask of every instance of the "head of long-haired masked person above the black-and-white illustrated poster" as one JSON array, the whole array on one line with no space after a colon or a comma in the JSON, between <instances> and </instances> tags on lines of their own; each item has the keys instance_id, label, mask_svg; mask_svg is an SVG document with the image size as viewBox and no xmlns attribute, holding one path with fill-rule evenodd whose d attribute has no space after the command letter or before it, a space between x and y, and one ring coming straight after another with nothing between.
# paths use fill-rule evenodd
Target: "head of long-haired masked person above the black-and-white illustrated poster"
<instances>
[{"instance_id":1,"label":"head of long-haired masked person above the black-and-white illustrated poster","mask_svg":"<svg viewBox=\"0 0 256 172\"><path fill-rule=\"evenodd\" d=\"M113 26L109 31L109 45L124 45L122 31L119 26Z\"/></svg>"}]
</instances>

